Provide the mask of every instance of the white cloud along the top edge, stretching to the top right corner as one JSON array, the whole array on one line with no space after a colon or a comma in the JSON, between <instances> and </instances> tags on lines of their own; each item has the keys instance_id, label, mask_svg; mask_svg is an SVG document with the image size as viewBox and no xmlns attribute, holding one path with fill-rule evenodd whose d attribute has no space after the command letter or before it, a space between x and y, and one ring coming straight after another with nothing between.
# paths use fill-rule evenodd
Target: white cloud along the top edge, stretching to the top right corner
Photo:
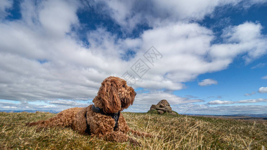
<instances>
[{"instance_id":1,"label":"white cloud along the top edge, stretching to the top right corner","mask_svg":"<svg viewBox=\"0 0 267 150\"><path fill-rule=\"evenodd\" d=\"M265 3L264 0L94 0L90 5L97 7L115 20L123 31L132 31L138 24L151 27L165 26L170 22L189 22L202 20L212 15L215 8L238 6L248 8L254 4Z\"/></svg>"}]
</instances>

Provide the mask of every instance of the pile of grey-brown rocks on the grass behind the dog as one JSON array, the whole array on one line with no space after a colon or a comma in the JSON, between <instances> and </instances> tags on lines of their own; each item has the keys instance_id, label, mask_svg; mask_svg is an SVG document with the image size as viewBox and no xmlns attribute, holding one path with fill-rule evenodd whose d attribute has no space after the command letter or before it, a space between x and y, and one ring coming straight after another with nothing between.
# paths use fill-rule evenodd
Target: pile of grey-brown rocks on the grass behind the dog
<instances>
[{"instance_id":1,"label":"pile of grey-brown rocks on the grass behind the dog","mask_svg":"<svg viewBox=\"0 0 267 150\"><path fill-rule=\"evenodd\" d=\"M171 106L169 102L166 99L162 99L158 102L158 104L152 104L150 107L150 110L157 110L159 114L163 114L164 112L168 112L171 114L175 114L172 112Z\"/></svg>"}]
</instances>

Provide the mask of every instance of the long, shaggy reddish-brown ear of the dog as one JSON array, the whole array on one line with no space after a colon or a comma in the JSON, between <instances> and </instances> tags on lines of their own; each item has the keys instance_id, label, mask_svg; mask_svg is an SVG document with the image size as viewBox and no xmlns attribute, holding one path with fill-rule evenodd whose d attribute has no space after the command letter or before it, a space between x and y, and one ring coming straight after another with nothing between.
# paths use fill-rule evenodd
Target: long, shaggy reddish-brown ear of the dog
<instances>
[{"instance_id":1,"label":"long, shaggy reddish-brown ear of the dog","mask_svg":"<svg viewBox=\"0 0 267 150\"><path fill-rule=\"evenodd\" d=\"M103 110L106 113L115 113L121 109L121 100L118 95L116 80L108 78L104 80L99 89Z\"/></svg>"}]
</instances>

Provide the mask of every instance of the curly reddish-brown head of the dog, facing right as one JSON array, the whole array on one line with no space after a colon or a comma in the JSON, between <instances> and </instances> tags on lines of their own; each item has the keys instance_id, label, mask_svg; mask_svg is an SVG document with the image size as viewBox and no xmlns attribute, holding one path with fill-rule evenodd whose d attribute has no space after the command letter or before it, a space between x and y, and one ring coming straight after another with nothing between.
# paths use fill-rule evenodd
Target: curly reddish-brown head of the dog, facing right
<instances>
[{"instance_id":1,"label":"curly reddish-brown head of the dog, facing right","mask_svg":"<svg viewBox=\"0 0 267 150\"><path fill-rule=\"evenodd\" d=\"M106 113L122 111L133 104L136 92L124 79L109 76L101 83L98 91L99 100Z\"/></svg>"}]
</instances>

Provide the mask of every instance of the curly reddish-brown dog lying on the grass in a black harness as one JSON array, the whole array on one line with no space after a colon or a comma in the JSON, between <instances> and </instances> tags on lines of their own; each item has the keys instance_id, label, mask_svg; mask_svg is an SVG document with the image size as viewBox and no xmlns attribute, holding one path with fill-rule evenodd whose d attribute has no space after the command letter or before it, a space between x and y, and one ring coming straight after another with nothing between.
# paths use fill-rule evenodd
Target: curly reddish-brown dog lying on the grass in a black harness
<instances>
[{"instance_id":1,"label":"curly reddish-brown dog lying on the grass in a black harness","mask_svg":"<svg viewBox=\"0 0 267 150\"><path fill-rule=\"evenodd\" d=\"M131 129L120 113L133 104L135 95L134 89L128 86L124 79L109 76L101 83L98 94L93 99L94 105L69 108L52 118L30 122L27 125L37 125L39 128L72 127L82 134L116 142L130 141L139 145L134 138L127 135L128 131L138 136L152 135Z\"/></svg>"}]
</instances>

